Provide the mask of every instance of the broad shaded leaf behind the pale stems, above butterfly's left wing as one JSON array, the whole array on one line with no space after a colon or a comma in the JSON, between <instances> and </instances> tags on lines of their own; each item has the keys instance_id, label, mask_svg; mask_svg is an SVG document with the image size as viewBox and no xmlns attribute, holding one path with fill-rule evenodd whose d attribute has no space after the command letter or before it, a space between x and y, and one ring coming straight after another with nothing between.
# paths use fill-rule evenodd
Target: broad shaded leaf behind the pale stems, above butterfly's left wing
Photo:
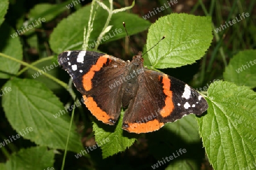
<instances>
[{"instance_id":1,"label":"broad shaded leaf behind the pale stems, above butterfly's left wing","mask_svg":"<svg viewBox=\"0 0 256 170\"><path fill-rule=\"evenodd\" d=\"M69 15L68 18L61 20L57 27L53 30L49 44L55 53L61 53L64 50L82 49L84 40L84 27L88 28L88 20L90 16L90 5ZM96 17L93 22L93 31L89 38L88 50L92 50L95 46L98 36L100 35L106 22L108 12L102 7L98 7ZM127 12L119 12L112 15L109 25L113 25L112 29L101 40L101 44L126 36L122 22L126 22L126 28L129 35L141 32L147 29L150 23L147 20L139 18L137 15ZM71 27L72 23L72 27Z\"/></svg>"}]
</instances>

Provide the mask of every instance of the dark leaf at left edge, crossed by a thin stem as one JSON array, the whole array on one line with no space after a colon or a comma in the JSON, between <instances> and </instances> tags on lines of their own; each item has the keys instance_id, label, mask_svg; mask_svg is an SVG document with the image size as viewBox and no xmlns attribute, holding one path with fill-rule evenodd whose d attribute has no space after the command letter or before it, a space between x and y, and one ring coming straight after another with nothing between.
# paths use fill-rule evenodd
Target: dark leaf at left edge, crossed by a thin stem
<instances>
[{"instance_id":1,"label":"dark leaf at left edge, crossed by a thin stem","mask_svg":"<svg viewBox=\"0 0 256 170\"><path fill-rule=\"evenodd\" d=\"M22 60L22 45L20 44L19 37L16 37L18 33L5 23L1 25L0 32L2 32L0 35L1 53ZM12 38L11 36L14 37ZM19 68L20 63L0 56L0 78L10 78L10 76L18 73Z\"/></svg>"}]
</instances>

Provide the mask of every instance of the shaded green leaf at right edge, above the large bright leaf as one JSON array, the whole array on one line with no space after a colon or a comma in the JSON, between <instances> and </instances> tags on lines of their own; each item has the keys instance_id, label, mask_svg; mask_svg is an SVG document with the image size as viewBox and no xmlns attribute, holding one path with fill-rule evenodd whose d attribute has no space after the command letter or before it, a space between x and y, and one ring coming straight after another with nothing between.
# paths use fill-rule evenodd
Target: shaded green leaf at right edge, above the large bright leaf
<instances>
[{"instance_id":1,"label":"shaded green leaf at right edge, above the large bright leaf","mask_svg":"<svg viewBox=\"0 0 256 170\"><path fill-rule=\"evenodd\" d=\"M256 87L256 50L241 51L226 67L223 77L238 86Z\"/></svg>"}]
</instances>

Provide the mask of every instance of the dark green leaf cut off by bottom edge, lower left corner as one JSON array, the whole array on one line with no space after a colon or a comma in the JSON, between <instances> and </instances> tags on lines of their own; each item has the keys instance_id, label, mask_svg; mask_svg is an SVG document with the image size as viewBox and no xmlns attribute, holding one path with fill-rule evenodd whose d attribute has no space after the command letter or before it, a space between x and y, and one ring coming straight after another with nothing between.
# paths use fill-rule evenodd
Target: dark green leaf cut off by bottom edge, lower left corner
<instances>
[{"instance_id":1,"label":"dark green leaf cut off by bottom edge, lower left corner","mask_svg":"<svg viewBox=\"0 0 256 170\"><path fill-rule=\"evenodd\" d=\"M36 146L30 148L22 148L19 152L11 155L6 162L6 169L12 170L34 170L47 169L53 167L54 153L47 147Z\"/></svg>"}]
</instances>

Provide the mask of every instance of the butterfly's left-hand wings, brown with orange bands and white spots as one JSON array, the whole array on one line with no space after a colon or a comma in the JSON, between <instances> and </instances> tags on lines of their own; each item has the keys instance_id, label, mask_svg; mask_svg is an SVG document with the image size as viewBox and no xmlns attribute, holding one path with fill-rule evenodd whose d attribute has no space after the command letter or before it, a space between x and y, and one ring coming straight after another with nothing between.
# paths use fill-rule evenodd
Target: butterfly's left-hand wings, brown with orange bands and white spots
<instances>
[{"instance_id":1,"label":"butterfly's left-hand wings, brown with orange bands and white spots","mask_svg":"<svg viewBox=\"0 0 256 170\"><path fill-rule=\"evenodd\" d=\"M71 75L90 112L105 124L114 125L121 112L120 78L126 74L126 62L81 50L61 53L58 62Z\"/></svg>"}]
</instances>

